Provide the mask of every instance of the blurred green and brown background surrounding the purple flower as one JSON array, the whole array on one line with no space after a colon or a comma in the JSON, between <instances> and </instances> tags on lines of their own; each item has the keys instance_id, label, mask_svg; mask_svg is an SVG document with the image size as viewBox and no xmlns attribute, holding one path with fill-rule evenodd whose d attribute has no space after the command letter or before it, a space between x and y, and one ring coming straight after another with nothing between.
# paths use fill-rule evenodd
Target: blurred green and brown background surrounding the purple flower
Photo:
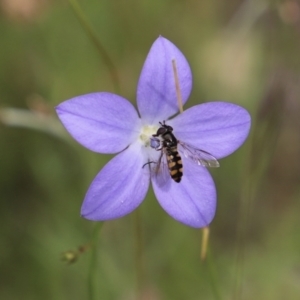
<instances>
[{"instance_id":1,"label":"blurred green and brown background surrounding the purple flower","mask_svg":"<svg viewBox=\"0 0 300 300\"><path fill-rule=\"evenodd\" d=\"M296 0L88 0L82 11L135 104L151 44L171 40L190 62L188 106L224 100L247 108L251 136L212 170L218 209L210 260L201 231L171 219L149 193L97 238L94 299L300 299L300 3ZM68 137L54 107L117 92L68 1L0 1L0 298L92 299L92 250L80 217L110 156ZM142 250L143 289L137 290Z\"/></svg>"}]
</instances>

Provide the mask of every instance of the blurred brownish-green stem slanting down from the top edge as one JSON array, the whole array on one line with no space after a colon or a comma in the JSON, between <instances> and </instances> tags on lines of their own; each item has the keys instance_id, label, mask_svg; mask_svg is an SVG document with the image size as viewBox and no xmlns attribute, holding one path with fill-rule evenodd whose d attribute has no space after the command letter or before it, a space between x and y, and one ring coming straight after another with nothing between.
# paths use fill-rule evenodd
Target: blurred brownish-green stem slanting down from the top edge
<instances>
[{"instance_id":1,"label":"blurred brownish-green stem slanting down from the top edge","mask_svg":"<svg viewBox=\"0 0 300 300\"><path fill-rule=\"evenodd\" d=\"M102 57L104 63L106 64L110 77L112 80L112 83L114 85L115 91L119 92L120 91L120 81L119 81L119 76L117 72L117 68L115 67L112 59L110 58L109 54L105 50L104 46L100 42L99 38L97 37L96 32L88 22L86 16L84 15L80 5L78 4L77 0L68 0L71 8L74 11L75 16L79 20L82 28L85 30L93 44L96 46L98 52L100 53L100 56Z\"/></svg>"}]
</instances>

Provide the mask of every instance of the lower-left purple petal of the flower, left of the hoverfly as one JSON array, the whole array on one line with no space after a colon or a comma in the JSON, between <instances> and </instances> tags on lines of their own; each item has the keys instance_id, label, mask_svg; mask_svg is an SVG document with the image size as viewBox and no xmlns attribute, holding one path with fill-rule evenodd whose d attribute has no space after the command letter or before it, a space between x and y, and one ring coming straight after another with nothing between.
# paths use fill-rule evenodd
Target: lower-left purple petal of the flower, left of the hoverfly
<instances>
[{"instance_id":1,"label":"lower-left purple petal of the flower, left of the hoverfly","mask_svg":"<svg viewBox=\"0 0 300 300\"><path fill-rule=\"evenodd\" d=\"M137 208L146 196L150 175L147 157L135 143L115 156L98 173L85 196L81 215L92 221L120 218Z\"/></svg>"}]
</instances>

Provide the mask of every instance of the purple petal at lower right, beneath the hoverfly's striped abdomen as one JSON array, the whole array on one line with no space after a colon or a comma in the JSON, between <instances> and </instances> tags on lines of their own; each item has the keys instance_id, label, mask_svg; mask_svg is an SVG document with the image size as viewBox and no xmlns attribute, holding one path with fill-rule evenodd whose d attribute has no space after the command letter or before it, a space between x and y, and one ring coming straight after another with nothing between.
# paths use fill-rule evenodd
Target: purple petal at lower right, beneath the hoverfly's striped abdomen
<instances>
[{"instance_id":1,"label":"purple petal at lower right, beneath the hoverfly's striped abdomen","mask_svg":"<svg viewBox=\"0 0 300 300\"><path fill-rule=\"evenodd\" d=\"M206 168L182 157L183 176L179 183L169 176L165 185L156 177L152 184L162 208L175 220L191 227L207 226L216 211L216 189Z\"/></svg>"}]
</instances>

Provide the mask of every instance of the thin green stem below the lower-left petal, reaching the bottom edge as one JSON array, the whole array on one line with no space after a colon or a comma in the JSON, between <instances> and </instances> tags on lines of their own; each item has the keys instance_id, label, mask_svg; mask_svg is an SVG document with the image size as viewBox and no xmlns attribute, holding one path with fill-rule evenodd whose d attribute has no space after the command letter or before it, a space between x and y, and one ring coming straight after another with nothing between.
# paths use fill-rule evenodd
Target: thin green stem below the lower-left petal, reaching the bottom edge
<instances>
[{"instance_id":1,"label":"thin green stem below the lower-left petal, reaching the bottom edge","mask_svg":"<svg viewBox=\"0 0 300 300\"><path fill-rule=\"evenodd\" d=\"M91 258L90 258L90 265L89 265L89 273L88 273L88 299L89 300L96 300L99 299L97 295L97 267L98 267L98 237L99 233L102 229L103 222L98 222L95 224L92 240L91 240Z\"/></svg>"}]
</instances>

